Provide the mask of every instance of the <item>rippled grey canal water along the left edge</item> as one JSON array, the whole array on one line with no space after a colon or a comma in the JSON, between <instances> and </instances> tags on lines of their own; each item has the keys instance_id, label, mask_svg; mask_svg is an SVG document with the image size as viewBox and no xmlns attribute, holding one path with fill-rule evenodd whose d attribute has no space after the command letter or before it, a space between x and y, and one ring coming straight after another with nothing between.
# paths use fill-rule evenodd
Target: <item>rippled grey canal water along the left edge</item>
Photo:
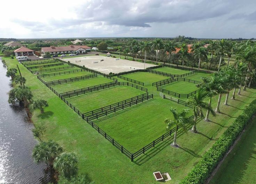
<instances>
[{"instance_id":1,"label":"rippled grey canal water along the left edge","mask_svg":"<svg viewBox=\"0 0 256 184\"><path fill-rule=\"evenodd\" d=\"M10 78L0 58L0 183L48 183L45 164L35 164L31 157L34 139L26 110L8 103Z\"/></svg>"}]
</instances>

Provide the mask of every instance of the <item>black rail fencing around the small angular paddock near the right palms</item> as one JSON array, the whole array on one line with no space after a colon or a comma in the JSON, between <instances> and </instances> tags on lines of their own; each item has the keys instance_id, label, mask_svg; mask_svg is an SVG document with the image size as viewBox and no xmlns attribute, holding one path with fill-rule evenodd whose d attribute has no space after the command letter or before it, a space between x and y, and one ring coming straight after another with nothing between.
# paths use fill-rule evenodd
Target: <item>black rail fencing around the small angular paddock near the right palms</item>
<instances>
[{"instance_id":1,"label":"black rail fencing around the small angular paddock near the right palms","mask_svg":"<svg viewBox=\"0 0 256 184\"><path fill-rule=\"evenodd\" d=\"M175 81L187 81L187 82L192 82L194 84L199 84L200 82L199 81L196 81L196 80L190 80L190 79L186 79L186 78L175 78L173 80L169 80L169 81L166 81L167 84L171 83L171 82L175 82ZM162 83L162 85L164 84L165 82ZM160 86L160 84L159 84ZM168 95L173 95L175 97L178 97L178 98L182 98L182 97L185 97L185 98L189 98L190 96L192 96L193 94L196 94L198 90L195 90L189 94L179 94L179 93L176 93L176 92L173 92L173 91L170 91L170 90L167 90L167 89L163 89L163 88L160 88L159 86L157 86L157 91L160 91L162 93L167 93Z\"/></svg>"}]
</instances>

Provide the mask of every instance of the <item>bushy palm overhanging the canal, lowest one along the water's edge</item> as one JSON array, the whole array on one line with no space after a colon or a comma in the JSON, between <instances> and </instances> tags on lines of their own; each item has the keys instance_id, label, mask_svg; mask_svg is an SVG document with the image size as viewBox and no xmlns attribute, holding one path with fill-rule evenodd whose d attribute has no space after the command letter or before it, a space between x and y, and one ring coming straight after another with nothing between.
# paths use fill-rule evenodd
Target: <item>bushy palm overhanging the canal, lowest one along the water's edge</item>
<instances>
[{"instance_id":1,"label":"bushy palm overhanging the canal, lowest one along the water's edge","mask_svg":"<svg viewBox=\"0 0 256 184\"><path fill-rule=\"evenodd\" d=\"M50 166L53 165L54 159L61 154L63 148L53 140L42 141L35 145L32 151L32 157L35 163L45 162Z\"/></svg>"}]
</instances>

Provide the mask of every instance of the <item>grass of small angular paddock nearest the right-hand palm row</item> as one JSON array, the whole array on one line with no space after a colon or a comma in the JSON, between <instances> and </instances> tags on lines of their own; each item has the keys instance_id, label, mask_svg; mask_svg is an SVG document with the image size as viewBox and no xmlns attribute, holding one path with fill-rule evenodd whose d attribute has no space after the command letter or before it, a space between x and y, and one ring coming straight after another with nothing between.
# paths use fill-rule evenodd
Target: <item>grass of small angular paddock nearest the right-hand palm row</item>
<instances>
[{"instance_id":1,"label":"grass of small angular paddock nearest the right-hand palm row","mask_svg":"<svg viewBox=\"0 0 256 184\"><path fill-rule=\"evenodd\" d=\"M173 92L179 93L179 94L189 94L198 89L194 83L185 82L185 81L172 82L165 86L161 86L161 88L169 90L169 91L173 91Z\"/></svg>"}]
</instances>

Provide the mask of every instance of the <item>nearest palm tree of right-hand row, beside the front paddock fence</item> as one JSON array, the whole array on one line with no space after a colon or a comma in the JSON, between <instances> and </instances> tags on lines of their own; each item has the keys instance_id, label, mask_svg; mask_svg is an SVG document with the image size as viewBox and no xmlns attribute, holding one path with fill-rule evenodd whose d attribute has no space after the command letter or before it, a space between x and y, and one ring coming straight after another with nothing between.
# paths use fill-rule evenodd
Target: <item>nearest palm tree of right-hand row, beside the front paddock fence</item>
<instances>
[{"instance_id":1,"label":"nearest palm tree of right-hand row, beside the front paddock fence","mask_svg":"<svg viewBox=\"0 0 256 184\"><path fill-rule=\"evenodd\" d=\"M166 130L171 130L173 126L175 126L174 140L173 146L176 146L177 132L178 128L181 128L184 132L187 132L187 124L191 124L191 119L186 117L189 109L183 109L182 111L177 111L176 108L170 108L171 113L173 114L173 119L165 119L165 123L167 123Z\"/></svg>"}]
</instances>

